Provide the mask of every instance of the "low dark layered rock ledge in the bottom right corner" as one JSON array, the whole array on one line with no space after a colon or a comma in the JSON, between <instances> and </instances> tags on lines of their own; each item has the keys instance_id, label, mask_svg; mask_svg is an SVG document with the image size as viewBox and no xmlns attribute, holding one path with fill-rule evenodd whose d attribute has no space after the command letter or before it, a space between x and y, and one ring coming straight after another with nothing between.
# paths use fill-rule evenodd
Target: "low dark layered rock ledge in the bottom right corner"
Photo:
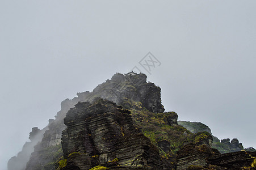
<instances>
[{"instance_id":1,"label":"low dark layered rock ledge in the bottom right corner","mask_svg":"<svg viewBox=\"0 0 256 170\"><path fill-rule=\"evenodd\" d=\"M253 169L256 152L230 152L220 154L209 145L189 144L178 151L177 170L179 169Z\"/></svg>"}]
</instances>

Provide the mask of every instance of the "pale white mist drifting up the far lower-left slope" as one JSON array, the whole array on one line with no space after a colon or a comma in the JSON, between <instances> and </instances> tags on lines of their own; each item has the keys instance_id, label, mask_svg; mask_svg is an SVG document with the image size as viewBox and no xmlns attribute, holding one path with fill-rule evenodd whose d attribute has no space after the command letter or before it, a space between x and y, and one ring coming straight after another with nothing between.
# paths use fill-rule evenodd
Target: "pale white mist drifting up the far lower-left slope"
<instances>
[{"instance_id":1,"label":"pale white mist drifting up the far lower-left slope","mask_svg":"<svg viewBox=\"0 0 256 170\"><path fill-rule=\"evenodd\" d=\"M30 159L31 153L34 151L33 146L37 142L40 142L43 138L44 131L47 128L40 130L37 127L32 128L29 139L31 142L26 142L17 156L13 156L8 162L8 170L24 170L26 168L27 162Z\"/></svg>"}]
</instances>

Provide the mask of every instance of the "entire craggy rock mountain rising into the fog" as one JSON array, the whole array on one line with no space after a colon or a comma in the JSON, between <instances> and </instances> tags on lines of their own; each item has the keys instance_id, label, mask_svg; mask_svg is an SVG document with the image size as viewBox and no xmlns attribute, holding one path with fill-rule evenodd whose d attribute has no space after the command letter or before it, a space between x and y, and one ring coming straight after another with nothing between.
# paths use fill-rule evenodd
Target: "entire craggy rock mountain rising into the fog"
<instances>
[{"instance_id":1,"label":"entire craggy rock mountain rising into the fog","mask_svg":"<svg viewBox=\"0 0 256 170\"><path fill-rule=\"evenodd\" d=\"M240 151L237 139L220 142L207 125L178 122L146 78L116 73L62 101L54 120L32 129L8 170L255 169L254 148Z\"/></svg>"}]
</instances>

